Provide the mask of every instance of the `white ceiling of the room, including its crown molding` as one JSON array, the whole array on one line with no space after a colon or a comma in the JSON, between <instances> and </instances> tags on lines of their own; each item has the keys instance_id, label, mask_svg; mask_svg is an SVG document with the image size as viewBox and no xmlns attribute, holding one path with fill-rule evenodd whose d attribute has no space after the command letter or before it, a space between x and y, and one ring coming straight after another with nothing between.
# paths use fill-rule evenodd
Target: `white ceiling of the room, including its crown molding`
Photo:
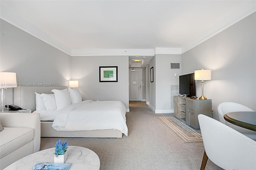
<instances>
[{"instance_id":1,"label":"white ceiling of the room, including its crown molding","mask_svg":"<svg viewBox=\"0 0 256 170\"><path fill-rule=\"evenodd\" d=\"M182 54L253 12L256 0L0 1L1 19L71 56L130 62Z\"/></svg>"}]
</instances>

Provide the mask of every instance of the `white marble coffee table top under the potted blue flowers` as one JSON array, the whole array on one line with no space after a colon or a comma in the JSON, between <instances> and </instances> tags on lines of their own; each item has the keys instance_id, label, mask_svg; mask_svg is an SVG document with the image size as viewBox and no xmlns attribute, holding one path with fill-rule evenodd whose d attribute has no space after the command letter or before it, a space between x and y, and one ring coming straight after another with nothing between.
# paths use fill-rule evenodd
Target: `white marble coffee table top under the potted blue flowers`
<instances>
[{"instance_id":1,"label":"white marble coffee table top under the potted blue flowers","mask_svg":"<svg viewBox=\"0 0 256 170\"><path fill-rule=\"evenodd\" d=\"M4 170L32 170L36 163L54 163L55 148L35 152L7 166ZM68 158L65 163L71 163L70 170L99 170L100 158L90 149L68 146Z\"/></svg>"}]
</instances>

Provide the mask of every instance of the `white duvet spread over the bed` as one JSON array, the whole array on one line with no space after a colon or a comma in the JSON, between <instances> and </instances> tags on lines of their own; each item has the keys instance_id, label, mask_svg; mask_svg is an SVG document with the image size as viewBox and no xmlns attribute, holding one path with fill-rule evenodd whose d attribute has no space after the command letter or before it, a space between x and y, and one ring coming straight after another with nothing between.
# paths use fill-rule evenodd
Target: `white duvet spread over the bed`
<instances>
[{"instance_id":1,"label":"white duvet spread over the bed","mask_svg":"<svg viewBox=\"0 0 256 170\"><path fill-rule=\"evenodd\" d=\"M126 108L120 101L85 100L58 110L52 127L57 131L116 129L127 136L125 115Z\"/></svg>"}]
</instances>

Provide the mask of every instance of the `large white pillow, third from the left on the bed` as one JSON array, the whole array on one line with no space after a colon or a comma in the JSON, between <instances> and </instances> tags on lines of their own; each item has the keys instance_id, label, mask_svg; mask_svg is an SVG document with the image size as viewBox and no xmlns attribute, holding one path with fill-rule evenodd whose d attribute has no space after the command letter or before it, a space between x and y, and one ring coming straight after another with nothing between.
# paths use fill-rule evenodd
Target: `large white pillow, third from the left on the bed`
<instances>
[{"instance_id":1,"label":"large white pillow, third from the left on the bed","mask_svg":"<svg viewBox=\"0 0 256 170\"><path fill-rule=\"evenodd\" d=\"M54 92L57 110L71 105L71 99L67 88L64 90L53 89L51 92Z\"/></svg>"}]
</instances>

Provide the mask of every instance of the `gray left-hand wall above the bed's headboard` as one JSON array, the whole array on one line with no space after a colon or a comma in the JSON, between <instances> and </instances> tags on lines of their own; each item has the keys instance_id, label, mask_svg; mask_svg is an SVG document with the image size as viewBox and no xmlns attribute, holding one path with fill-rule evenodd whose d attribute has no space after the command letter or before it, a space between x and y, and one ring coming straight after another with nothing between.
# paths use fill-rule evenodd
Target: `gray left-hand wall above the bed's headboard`
<instances>
[{"instance_id":1,"label":"gray left-hand wall above the bed's headboard","mask_svg":"<svg viewBox=\"0 0 256 170\"><path fill-rule=\"evenodd\" d=\"M0 20L0 71L16 72L17 83L68 86L71 57L36 37ZM13 101L12 91L9 101Z\"/></svg>"}]
</instances>

